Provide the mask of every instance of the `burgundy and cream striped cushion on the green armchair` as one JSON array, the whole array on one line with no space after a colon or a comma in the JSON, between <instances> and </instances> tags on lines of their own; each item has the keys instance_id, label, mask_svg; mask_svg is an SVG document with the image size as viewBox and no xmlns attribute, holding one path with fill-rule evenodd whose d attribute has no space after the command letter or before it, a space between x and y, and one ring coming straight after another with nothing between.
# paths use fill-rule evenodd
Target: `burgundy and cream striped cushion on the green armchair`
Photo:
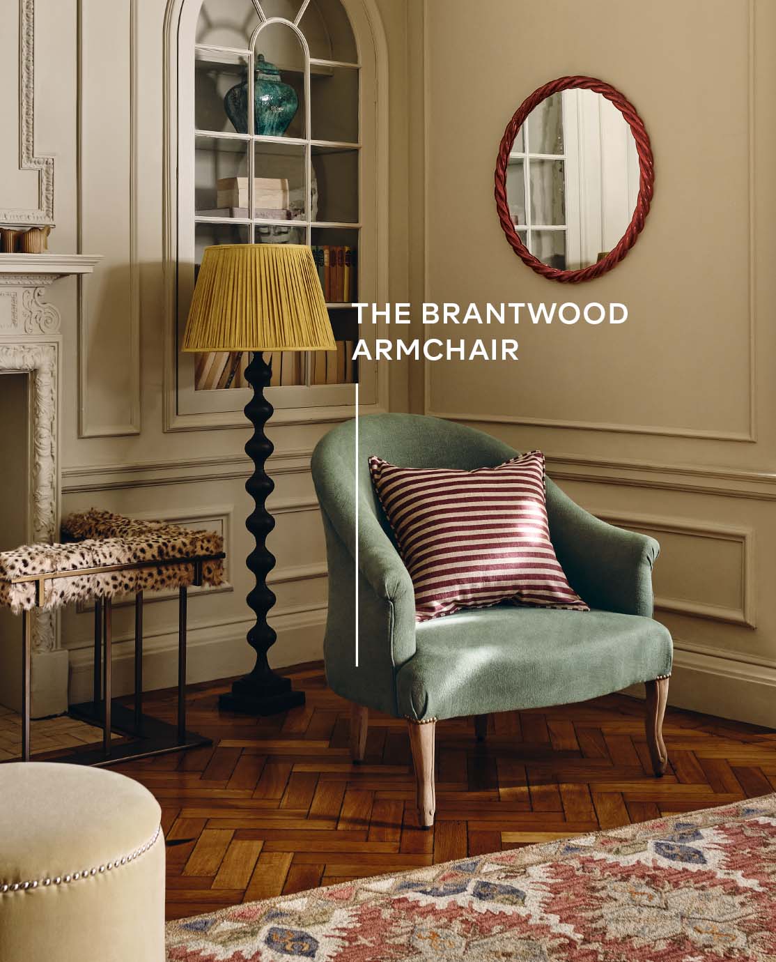
<instances>
[{"instance_id":1,"label":"burgundy and cream striped cushion on the green armchair","mask_svg":"<svg viewBox=\"0 0 776 962\"><path fill-rule=\"evenodd\" d=\"M544 455L497 468L397 468L369 458L372 481L413 579L418 621L499 601L589 611L550 541Z\"/></svg>"}]
</instances>

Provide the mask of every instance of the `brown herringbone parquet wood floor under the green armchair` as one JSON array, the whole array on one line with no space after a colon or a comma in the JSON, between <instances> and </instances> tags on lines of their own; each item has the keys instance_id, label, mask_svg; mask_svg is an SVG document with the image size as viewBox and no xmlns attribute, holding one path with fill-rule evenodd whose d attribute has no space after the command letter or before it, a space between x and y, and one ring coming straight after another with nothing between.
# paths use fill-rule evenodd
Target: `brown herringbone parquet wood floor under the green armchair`
<instances>
[{"instance_id":1,"label":"brown herringbone parquet wood floor under the green armchair","mask_svg":"<svg viewBox=\"0 0 776 962\"><path fill-rule=\"evenodd\" d=\"M213 748L116 767L159 799L169 918L345 878L393 872L764 795L776 786L776 733L668 709L669 768L651 774L642 704L607 696L439 722L437 824L423 831L405 722L372 715L352 765L350 709L320 666L289 672L303 708L256 720L219 715L224 684L192 689L189 727ZM170 693L146 710L172 721Z\"/></svg>"}]
</instances>

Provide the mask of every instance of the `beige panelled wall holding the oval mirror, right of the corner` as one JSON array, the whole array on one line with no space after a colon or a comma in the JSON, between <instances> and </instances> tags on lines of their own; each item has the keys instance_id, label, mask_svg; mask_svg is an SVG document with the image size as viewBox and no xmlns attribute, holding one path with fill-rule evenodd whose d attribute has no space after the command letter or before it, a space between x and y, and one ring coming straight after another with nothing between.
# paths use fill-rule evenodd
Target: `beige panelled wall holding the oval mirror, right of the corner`
<instances>
[{"instance_id":1,"label":"beige panelled wall holding the oval mirror, right of the corner","mask_svg":"<svg viewBox=\"0 0 776 962\"><path fill-rule=\"evenodd\" d=\"M769 0L426 2L425 298L630 312L611 328L486 330L517 337L520 361L427 365L426 409L542 448L582 504L654 533L673 699L771 724L774 38ZM626 261L570 289L513 255L492 174L523 98L574 73L636 105L656 190Z\"/></svg>"}]
</instances>

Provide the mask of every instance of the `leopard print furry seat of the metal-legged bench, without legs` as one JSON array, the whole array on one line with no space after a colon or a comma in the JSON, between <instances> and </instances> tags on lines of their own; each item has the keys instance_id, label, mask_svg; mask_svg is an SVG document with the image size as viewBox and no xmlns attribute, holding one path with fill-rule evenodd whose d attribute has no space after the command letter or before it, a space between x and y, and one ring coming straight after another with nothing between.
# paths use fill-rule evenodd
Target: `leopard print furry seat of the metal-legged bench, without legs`
<instances>
[{"instance_id":1,"label":"leopard print furry seat of the metal-legged bench, without legs","mask_svg":"<svg viewBox=\"0 0 776 962\"><path fill-rule=\"evenodd\" d=\"M164 521L141 521L94 509L70 515L62 525L62 544L25 544L0 552L0 605L14 614L32 608L59 608L94 596L108 598L191 585L194 564L148 565L180 558L211 558L223 552L213 531L189 531ZM134 565L146 567L133 568ZM79 574L79 570L126 565L127 570ZM203 561L202 583L220 585L223 561ZM42 602L35 581L19 581L53 571L67 576L43 583Z\"/></svg>"}]
</instances>

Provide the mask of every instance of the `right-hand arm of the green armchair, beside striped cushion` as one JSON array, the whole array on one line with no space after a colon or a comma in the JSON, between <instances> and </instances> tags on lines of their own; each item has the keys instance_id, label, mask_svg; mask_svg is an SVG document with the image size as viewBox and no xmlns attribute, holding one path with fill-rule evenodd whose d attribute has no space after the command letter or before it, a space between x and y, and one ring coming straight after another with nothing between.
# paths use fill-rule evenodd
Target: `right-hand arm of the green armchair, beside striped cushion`
<instances>
[{"instance_id":1,"label":"right-hand arm of the green armchair, beside striped cushion","mask_svg":"<svg viewBox=\"0 0 776 962\"><path fill-rule=\"evenodd\" d=\"M652 617L654 538L594 518L549 478L547 514L558 560L591 608Z\"/></svg>"}]
</instances>

